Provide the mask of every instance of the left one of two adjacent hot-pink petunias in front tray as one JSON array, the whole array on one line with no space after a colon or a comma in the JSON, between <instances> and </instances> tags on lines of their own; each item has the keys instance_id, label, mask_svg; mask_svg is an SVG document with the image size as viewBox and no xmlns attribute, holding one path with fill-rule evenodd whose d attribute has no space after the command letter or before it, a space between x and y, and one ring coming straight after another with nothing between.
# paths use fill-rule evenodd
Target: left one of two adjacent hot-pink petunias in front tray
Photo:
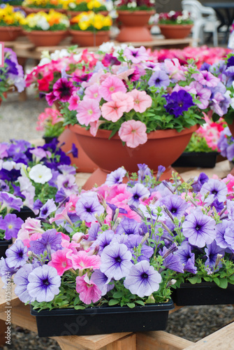
<instances>
[{"instance_id":1,"label":"left one of two adjacent hot-pink petunias in front tray","mask_svg":"<svg viewBox=\"0 0 234 350\"><path fill-rule=\"evenodd\" d=\"M58 251L55 251L51 255L52 260L47 264L57 269L57 273L59 276L62 276L65 271L73 267L72 260L67 258L66 256L67 253L70 251L71 250L68 248L65 248L64 250L59 249Z\"/></svg>"}]
</instances>

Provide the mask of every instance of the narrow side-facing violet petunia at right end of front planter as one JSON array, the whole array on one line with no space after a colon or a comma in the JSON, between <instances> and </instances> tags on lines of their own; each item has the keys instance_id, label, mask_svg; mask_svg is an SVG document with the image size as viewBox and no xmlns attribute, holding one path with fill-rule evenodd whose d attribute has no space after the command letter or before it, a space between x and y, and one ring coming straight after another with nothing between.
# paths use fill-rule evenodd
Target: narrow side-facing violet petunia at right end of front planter
<instances>
[{"instance_id":1,"label":"narrow side-facing violet petunia at right end of front planter","mask_svg":"<svg viewBox=\"0 0 234 350\"><path fill-rule=\"evenodd\" d=\"M184 265L184 271L196 274L197 268L195 266L195 254L191 252L191 246L188 241L182 241L182 244L178 246L175 255L180 257L180 261Z\"/></svg>"}]
</instances>

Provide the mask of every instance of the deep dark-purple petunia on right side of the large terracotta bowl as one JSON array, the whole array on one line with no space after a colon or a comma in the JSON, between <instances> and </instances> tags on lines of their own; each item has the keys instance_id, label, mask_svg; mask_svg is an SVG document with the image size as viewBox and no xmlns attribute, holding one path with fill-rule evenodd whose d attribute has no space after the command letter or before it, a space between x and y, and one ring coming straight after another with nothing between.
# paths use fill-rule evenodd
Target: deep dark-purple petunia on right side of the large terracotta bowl
<instances>
[{"instance_id":1,"label":"deep dark-purple petunia on right side of the large terracotta bowl","mask_svg":"<svg viewBox=\"0 0 234 350\"><path fill-rule=\"evenodd\" d=\"M182 116L184 111L188 111L191 106L194 106L191 94L185 90L174 91L172 94L164 94L167 104L164 105L166 111L178 118Z\"/></svg>"}]
</instances>

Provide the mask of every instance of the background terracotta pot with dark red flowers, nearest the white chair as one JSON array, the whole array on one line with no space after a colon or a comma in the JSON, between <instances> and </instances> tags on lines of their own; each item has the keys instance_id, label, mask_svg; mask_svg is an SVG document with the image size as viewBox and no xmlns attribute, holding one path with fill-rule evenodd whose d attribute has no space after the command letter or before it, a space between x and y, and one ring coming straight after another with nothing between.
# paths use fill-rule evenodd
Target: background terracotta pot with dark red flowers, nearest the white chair
<instances>
[{"instance_id":1,"label":"background terracotta pot with dark red flowers, nearest the white chair","mask_svg":"<svg viewBox=\"0 0 234 350\"><path fill-rule=\"evenodd\" d=\"M189 36L193 25L158 25L166 39L183 39Z\"/></svg>"}]
</instances>

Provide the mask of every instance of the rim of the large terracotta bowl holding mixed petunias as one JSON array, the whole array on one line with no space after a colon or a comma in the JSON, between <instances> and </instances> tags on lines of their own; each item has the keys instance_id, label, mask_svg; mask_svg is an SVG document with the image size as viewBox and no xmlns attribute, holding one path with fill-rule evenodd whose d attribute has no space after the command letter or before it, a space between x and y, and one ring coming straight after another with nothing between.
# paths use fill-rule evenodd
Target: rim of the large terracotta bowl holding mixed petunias
<instances>
[{"instance_id":1,"label":"rim of the large terracotta bowl holding mixed petunias","mask_svg":"<svg viewBox=\"0 0 234 350\"><path fill-rule=\"evenodd\" d=\"M191 132L195 132L198 130L199 125L193 125L193 127L187 128L182 130L182 132L177 132L175 129L168 129L168 130L156 130L154 132L149 132L147 134L147 139L166 139L168 137L177 137L180 135L186 135ZM78 124L75 125L68 125L68 129L75 132L76 134L80 134L86 137L93 137L92 134L90 134L89 130L86 130L85 127L81 127ZM96 139L108 139L110 137L111 130L98 130L96 133ZM112 139L120 140L119 135L115 134L115 136L112 137Z\"/></svg>"}]
</instances>

